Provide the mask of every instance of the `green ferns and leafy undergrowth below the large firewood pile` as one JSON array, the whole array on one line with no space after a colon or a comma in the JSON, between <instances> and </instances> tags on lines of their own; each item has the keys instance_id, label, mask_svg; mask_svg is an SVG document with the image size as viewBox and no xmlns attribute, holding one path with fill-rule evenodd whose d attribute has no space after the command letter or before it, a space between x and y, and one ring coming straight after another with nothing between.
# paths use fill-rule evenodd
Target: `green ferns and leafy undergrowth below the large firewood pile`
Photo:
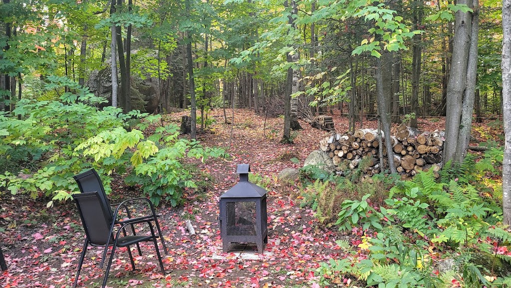
<instances>
[{"instance_id":1,"label":"green ferns and leafy undergrowth below the large firewood pile","mask_svg":"<svg viewBox=\"0 0 511 288\"><path fill-rule=\"evenodd\" d=\"M364 260L321 263L319 283L352 278L375 287L507 287L511 233L501 226L501 187L494 180L501 153L493 148L479 161L469 154L462 163L447 163L439 180L433 171L410 181L378 174L359 182L357 171L342 178L302 169L301 206L315 210L327 227L360 237L358 248L367 253ZM440 258L454 259L455 269L438 273Z\"/></svg>"}]
</instances>

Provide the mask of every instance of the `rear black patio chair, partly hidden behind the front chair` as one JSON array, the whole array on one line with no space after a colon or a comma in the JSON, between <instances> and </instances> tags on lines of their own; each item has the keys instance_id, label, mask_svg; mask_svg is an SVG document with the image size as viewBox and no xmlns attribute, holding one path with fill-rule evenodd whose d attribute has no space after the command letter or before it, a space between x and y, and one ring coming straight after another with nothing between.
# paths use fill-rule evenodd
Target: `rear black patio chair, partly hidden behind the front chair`
<instances>
[{"instance_id":1,"label":"rear black patio chair, partly hidden behind the front chair","mask_svg":"<svg viewBox=\"0 0 511 288\"><path fill-rule=\"evenodd\" d=\"M101 178L99 177L96 170L90 169L90 170L85 171L81 174L73 176L73 178L75 179L76 183L78 184L78 188L80 189L80 192L82 192L82 193L94 192L94 191L98 192L98 195L100 197L100 200L101 200L103 206L109 207L108 211L110 211L111 218L115 220L113 222L113 225L117 225L117 224L122 225L123 223L125 223L124 220L118 220L117 216L116 217L113 216L113 211L111 210L111 207L118 206L118 208L119 208L119 205L118 204L110 204L110 202L108 201L108 198L105 193L105 188L103 187L103 182L101 182ZM141 199L146 199L146 198L136 198L136 200L141 200ZM130 200L128 202L132 202L132 201L133 200ZM122 205L120 207L122 207L125 210L125 213L127 214L128 218L130 218L130 219L154 221L156 229L158 230L158 235L156 235L156 237L160 238L161 245L163 246L164 252L165 252L165 254L168 254L167 246L165 245L165 240L164 240L163 235L161 234L161 229L160 229L160 226L158 223L158 219L157 219L158 215L156 215L156 213L154 211L153 204L150 201L148 201L147 199L146 199L146 201L149 203L149 207L151 208L150 215L131 218L131 213L130 213L128 207L126 205ZM131 225L131 230L132 230L133 235L136 235L133 225ZM138 255L142 256L142 251L140 250L140 246L138 244L136 245L136 248L138 249ZM105 251L103 252L103 257L101 259L101 268L103 268L103 263L106 258L106 251L107 251L107 249L105 248Z\"/></svg>"}]
</instances>

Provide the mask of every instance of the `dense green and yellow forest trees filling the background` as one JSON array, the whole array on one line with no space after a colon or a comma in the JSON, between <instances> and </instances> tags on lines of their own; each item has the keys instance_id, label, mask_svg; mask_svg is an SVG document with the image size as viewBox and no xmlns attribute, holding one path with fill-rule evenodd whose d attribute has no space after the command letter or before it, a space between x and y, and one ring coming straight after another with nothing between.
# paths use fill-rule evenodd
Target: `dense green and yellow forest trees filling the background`
<instances>
[{"instance_id":1,"label":"dense green and yellow forest trees filling the background","mask_svg":"<svg viewBox=\"0 0 511 288\"><path fill-rule=\"evenodd\" d=\"M413 114L446 116L456 6L449 1L381 5L410 31L422 31L403 37L406 50L380 58L392 121L408 116L414 126ZM477 121L498 120L502 114L501 6L484 1L478 8ZM71 90L68 81L91 87L111 103L111 83L104 82L111 81L113 25L119 105L125 111L165 113L189 107L193 67L202 128L212 107L234 105L283 115L287 68L292 66L302 79L298 91L304 93L297 98L301 113L329 113L338 107L354 121L377 114L378 58L370 55L372 50L356 51L361 43L370 46L378 40L370 31L375 20L368 13L343 17L328 1L4 0L0 7L5 23L0 30L0 89L6 111L18 99L58 98Z\"/></svg>"}]
</instances>

